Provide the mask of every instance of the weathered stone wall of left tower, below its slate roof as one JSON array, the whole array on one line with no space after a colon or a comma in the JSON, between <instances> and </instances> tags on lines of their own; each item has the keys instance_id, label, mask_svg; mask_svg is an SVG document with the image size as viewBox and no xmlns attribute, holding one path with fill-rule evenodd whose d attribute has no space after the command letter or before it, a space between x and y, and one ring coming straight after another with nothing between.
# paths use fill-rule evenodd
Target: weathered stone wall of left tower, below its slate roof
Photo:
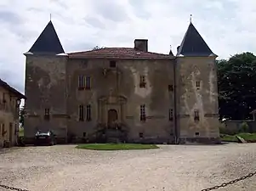
<instances>
[{"instance_id":1,"label":"weathered stone wall of left tower, below its slate roof","mask_svg":"<svg viewBox=\"0 0 256 191\"><path fill-rule=\"evenodd\" d=\"M25 138L34 138L37 130L52 129L57 137L66 137L65 56L26 56ZM50 120L44 119L49 109Z\"/></svg>"}]
</instances>

